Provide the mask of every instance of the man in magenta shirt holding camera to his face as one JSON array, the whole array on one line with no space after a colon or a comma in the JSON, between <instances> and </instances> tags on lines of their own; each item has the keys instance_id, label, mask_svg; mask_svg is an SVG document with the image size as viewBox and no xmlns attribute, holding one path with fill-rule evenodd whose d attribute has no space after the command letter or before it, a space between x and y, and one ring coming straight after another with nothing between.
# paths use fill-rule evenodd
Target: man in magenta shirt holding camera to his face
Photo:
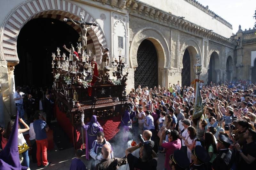
<instances>
[{"instance_id":1,"label":"man in magenta shirt holding camera to his face","mask_svg":"<svg viewBox=\"0 0 256 170\"><path fill-rule=\"evenodd\" d=\"M166 135L168 135L169 142L163 143L163 139L165 138ZM164 128L162 130L162 136L160 138L159 146L166 149L164 167L167 170L171 170L171 168L169 166L170 155L173 154L173 152L175 150L181 148L181 142L179 139L178 131L177 130L169 130L169 129L167 130L166 128Z\"/></svg>"}]
</instances>

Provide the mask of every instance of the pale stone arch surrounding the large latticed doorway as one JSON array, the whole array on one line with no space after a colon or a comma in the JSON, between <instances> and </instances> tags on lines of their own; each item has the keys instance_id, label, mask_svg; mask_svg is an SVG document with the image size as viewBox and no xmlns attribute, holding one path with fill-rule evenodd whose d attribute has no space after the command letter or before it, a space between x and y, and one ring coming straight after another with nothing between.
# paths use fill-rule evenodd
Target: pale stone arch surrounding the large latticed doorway
<instances>
[{"instance_id":1,"label":"pale stone arch surrounding the large latticed doorway","mask_svg":"<svg viewBox=\"0 0 256 170\"><path fill-rule=\"evenodd\" d=\"M167 87L168 82L166 81L166 70L170 67L169 47L164 36L156 31L154 28L145 28L134 35L129 53L131 67L134 69L138 67L137 52L140 43L143 40L149 40L154 44L158 56L158 70L160 70L158 71L158 84ZM134 85L131 85L132 88L133 86Z\"/></svg>"}]
</instances>

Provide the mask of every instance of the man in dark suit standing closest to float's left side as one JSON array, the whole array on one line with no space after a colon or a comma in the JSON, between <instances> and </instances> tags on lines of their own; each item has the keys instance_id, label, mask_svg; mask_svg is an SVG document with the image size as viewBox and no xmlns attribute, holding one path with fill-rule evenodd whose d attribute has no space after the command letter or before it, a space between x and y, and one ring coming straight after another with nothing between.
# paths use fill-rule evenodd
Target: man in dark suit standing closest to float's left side
<instances>
[{"instance_id":1,"label":"man in dark suit standing closest to float's left side","mask_svg":"<svg viewBox=\"0 0 256 170\"><path fill-rule=\"evenodd\" d=\"M46 123L50 126L53 115L53 102L50 99L50 94L46 94L46 98L43 100L43 111L46 113Z\"/></svg>"}]
</instances>

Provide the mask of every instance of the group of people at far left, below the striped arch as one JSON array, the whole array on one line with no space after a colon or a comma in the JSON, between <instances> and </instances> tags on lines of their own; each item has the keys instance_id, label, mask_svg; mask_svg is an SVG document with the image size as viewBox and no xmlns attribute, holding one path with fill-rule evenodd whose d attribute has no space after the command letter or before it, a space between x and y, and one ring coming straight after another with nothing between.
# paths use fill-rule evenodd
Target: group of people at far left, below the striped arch
<instances>
[{"instance_id":1,"label":"group of people at far left, below the striped arch","mask_svg":"<svg viewBox=\"0 0 256 170\"><path fill-rule=\"evenodd\" d=\"M19 115L18 146L23 148L22 151L19 151L20 162L22 165L29 167L28 149L30 148L32 150L32 161L37 163L38 167L47 167L51 164L47 160L48 140L46 136L53 117L53 100L51 96L52 94L47 87L44 90L43 88L30 88L29 86L16 87L13 99L17 114L14 113L11 116L11 121L7 123L6 129L2 126L0 127L0 152L8 142L15 116ZM46 113L46 122L42 114L40 114L40 110ZM29 132L29 146L27 144L28 141L23 136L23 133L27 131Z\"/></svg>"}]
</instances>

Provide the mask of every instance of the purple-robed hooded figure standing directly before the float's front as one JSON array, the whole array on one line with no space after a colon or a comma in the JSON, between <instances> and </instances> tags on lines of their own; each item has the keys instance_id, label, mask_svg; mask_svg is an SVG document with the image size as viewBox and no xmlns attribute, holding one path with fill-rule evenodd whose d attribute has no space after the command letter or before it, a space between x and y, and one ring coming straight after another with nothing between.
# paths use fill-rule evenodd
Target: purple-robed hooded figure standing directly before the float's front
<instances>
[{"instance_id":1,"label":"purple-robed hooded figure standing directly before the float's front","mask_svg":"<svg viewBox=\"0 0 256 170\"><path fill-rule=\"evenodd\" d=\"M92 124L96 123L98 127L94 127ZM89 160L90 155L89 152L92 149L92 143L93 141L97 140L97 133L103 132L103 128L100 126L100 123L97 121L97 116L92 115L91 121L89 123L86 123L86 125L83 126L85 129L85 154L86 159Z\"/></svg>"}]
</instances>

